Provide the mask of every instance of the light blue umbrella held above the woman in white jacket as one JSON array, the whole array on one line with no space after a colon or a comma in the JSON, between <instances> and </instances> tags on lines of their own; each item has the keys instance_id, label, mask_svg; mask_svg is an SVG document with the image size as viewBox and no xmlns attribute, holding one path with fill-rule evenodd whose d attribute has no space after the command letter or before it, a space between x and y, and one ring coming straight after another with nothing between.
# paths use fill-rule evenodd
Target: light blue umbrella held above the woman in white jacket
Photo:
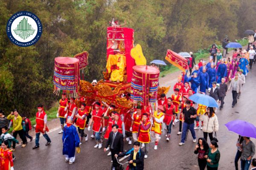
<instances>
[{"instance_id":1,"label":"light blue umbrella held above the woman in white jacket","mask_svg":"<svg viewBox=\"0 0 256 170\"><path fill-rule=\"evenodd\" d=\"M196 93L189 97L195 103L205 105L207 107L218 108L218 103L211 96Z\"/></svg>"}]
</instances>

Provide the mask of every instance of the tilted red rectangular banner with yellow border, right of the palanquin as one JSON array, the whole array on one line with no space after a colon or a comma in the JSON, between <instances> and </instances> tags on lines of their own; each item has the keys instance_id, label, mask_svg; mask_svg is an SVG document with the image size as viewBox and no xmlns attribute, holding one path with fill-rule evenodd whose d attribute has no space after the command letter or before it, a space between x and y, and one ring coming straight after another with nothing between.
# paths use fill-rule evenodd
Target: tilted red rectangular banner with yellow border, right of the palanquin
<instances>
[{"instance_id":1,"label":"tilted red rectangular banner with yellow border, right of the palanquin","mask_svg":"<svg viewBox=\"0 0 256 170\"><path fill-rule=\"evenodd\" d=\"M167 50L165 59L181 71L185 71L188 68L188 61L172 50Z\"/></svg>"}]
</instances>

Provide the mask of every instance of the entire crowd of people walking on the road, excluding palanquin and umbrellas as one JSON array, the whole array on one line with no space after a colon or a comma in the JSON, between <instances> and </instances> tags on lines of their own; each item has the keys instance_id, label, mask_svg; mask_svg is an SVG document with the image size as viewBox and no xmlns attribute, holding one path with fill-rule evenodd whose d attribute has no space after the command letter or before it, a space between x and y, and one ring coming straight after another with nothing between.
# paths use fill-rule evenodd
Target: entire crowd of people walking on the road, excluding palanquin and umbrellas
<instances>
[{"instance_id":1,"label":"entire crowd of people walking on the road, excluding palanquin and umbrellas","mask_svg":"<svg viewBox=\"0 0 256 170\"><path fill-rule=\"evenodd\" d=\"M195 93L207 94L220 103L219 110L221 110L224 107L227 91L232 91L231 106L234 107L237 99L241 96L242 86L249 69L252 68L253 62L255 63L256 52L253 46L250 46L248 51L241 48L235 49L232 57L226 57L221 54L216 45L212 45L209 54L208 62L201 59L196 65L193 53L190 52L192 57L188 58L189 69L186 74L178 77L173 87L174 93L169 97L166 94L161 94L154 106L143 106L143 103L135 102L130 109L125 110L118 109L113 103L107 104L104 100L86 105L84 97L79 96L77 99L71 97L68 100L66 94L63 93L59 100L56 116L60 119L61 124L61 131L58 133L63 133L65 161L73 164L75 152L80 152L79 145L88 140L89 134L84 132L84 129L87 128L88 131L93 131L90 137L95 139L94 148L104 147L104 152L109 151L108 156L111 156L113 161L112 169L120 168L118 157L128 156L128 166L131 170L143 170L144 159L148 158L151 137L154 139L154 150L157 150L161 134L166 131L166 141L169 142L172 126L178 123L177 135L181 135L180 146L185 144L188 131L192 134L192 142L197 142L195 130L202 130L204 137L198 139L194 151L198 154L199 168L200 170L204 170L206 167L207 170L217 170L221 156L215 133L219 129L217 108L192 102L189 96ZM192 71L193 67L195 69ZM188 71L190 72L189 76L187 75ZM227 85L228 82L230 82L229 85ZM93 80L92 85L96 86L97 81ZM130 99L129 94L124 94L123 97ZM81 104L79 108L76 105L76 100ZM32 149L39 147L40 133L47 140L46 146L51 143L51 139L47 135L49 131L47 114L43 105L39 104L37 109L35 146ZM20 116L17 110L11 112L7 117L0 110L0 128L2 129L0 131L0 144L2 144L0 167L13 169L15 156L12 152L15 151L15 144L19 143L16 140L17 135L22 140L21 147L26 147L27 138L30 142L33 139L29 136L31 122L25 116ZM8 133L11 128L13 135ZM104 139L106 144L102 146ZM133 148L127 152L123 150L125 141L128 144L133 143ZM255 145L250 138L239 136L237 147L236 169L240 157L241 170L248 170L251 162L253 166L256 166L256 161L253 159ZM9 150L10 148L12 149Z\"/></svg>"}]
</instances>

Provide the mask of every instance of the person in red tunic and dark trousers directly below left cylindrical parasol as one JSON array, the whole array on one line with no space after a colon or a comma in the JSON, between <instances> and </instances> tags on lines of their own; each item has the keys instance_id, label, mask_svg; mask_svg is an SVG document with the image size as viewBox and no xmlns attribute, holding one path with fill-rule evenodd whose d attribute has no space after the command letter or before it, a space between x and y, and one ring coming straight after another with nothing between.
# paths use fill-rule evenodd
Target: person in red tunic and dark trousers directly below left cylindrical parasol
<instances>
[{"instance_id":1,"label":"person in red tunic and dark trousers directly below left cylindrical parasol","mask_svg":"<svg viewBox=\"0 0 256 170\"><path fill-rule=\"evenodd\" d=\"M61 99L59 101L59 107L58 107L58 113L57 113L57 117L59 117L60 121L61 121L61 131L58 132L59 134L63 133L63 127L64 127L64 124L65 124L66 118L67 118L67 114L66 114L67 109L65 111L65 108L67 107L67 105L68 105L68 100L66 98L66 94L63 93L61 95Z\"/></svg>"}]
</instances>

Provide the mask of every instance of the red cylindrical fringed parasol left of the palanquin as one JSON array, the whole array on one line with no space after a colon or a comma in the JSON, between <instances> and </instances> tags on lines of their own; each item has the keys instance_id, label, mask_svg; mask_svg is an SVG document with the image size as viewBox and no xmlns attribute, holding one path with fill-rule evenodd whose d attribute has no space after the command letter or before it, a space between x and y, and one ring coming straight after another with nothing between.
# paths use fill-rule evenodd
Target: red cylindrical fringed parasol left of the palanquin
<instances>
[{"instance_id":1,"label":"red cylindrical fringed parasol left of the palanquin","mask_svg":"<svg viewBox=\"0 0 256 170\"><path fill-rule=\"evenodd\" d=\"M56 57L53 76L53 93L66 92L68 97L76 97L79 88L79 59Z\"/></svg>"}]
</instances>

